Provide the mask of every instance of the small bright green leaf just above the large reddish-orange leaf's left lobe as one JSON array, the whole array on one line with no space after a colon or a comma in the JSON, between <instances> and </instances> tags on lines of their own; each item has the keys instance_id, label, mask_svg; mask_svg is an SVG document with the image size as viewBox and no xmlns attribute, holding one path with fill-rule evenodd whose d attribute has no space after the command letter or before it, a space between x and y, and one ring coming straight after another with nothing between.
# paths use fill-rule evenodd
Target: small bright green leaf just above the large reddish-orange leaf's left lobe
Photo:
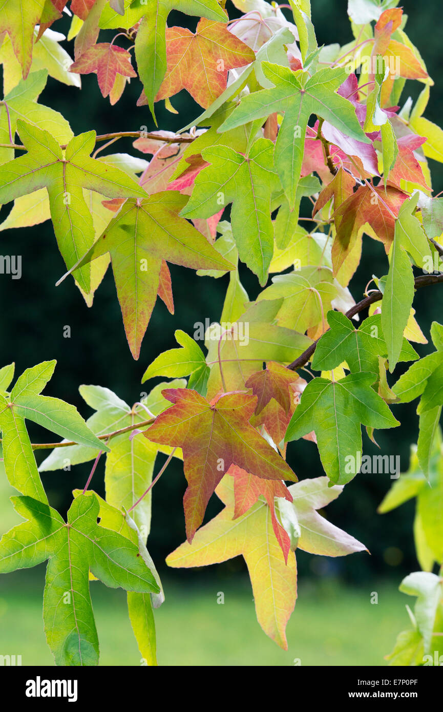
<instances>
[{"instance_id":1,"label":"small bright green leaf just above the large reddish-orange leaf's left lobe","mask_svg":"<svg viewBox=\"0 0 443 712\"><path fill-rule=\"evenodd\" d=\"M199 345L184 331L177 329L175 340L182 347L164 351L152 361L142 377L142 383L156 376L167 378L190 376L188 388L204 395L206 393L209 366Z\"/></svg>"}]
</instances>

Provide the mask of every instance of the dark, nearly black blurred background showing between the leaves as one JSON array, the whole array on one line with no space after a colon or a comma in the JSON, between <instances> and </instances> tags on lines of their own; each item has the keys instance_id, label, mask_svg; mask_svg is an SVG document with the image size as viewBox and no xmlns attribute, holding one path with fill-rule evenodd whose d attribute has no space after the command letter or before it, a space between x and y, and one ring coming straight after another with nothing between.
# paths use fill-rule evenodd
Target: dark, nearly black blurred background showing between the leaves
<instances>
[{"instance_id":1,"label":"dark, nearly black blurred background showing between the leaves","mask_svg":"<svg viewBox=\"0 0 443 712\"><path fill-rule=\"evenodd\" d=\"M229 1L226 7L231 18L239 15ZM412 0L405 0L404 3L404 11L409 15L407 33L422 53L429 74L437 80L437 86L431 92L426 116L439 125L442 124L443 95L438 82L441 41L436 32L436 17L440 9L439 0L428 0L426 4L419 5ZM319 45L331 42L344 44L350 41L345 0L313 0L312 11ZM63 31L64 28L67 33L68 24L68 19L63 19L55 28L58 31ZM197 19L172 13L169 24L194 29ZM114 34L112 32L110 36ZM72 43L64 45L72 55ZM124 39L122 45L125 45ZM114 107L100 95L95 75L83 76L82 83L83 89L79 91L49 78L41 95L41 103L59 110L71 122L76 134L90 129L95 129L98 133L136 131L142 126L147 126L148 130L155 129L148 108L137 108L135 105L142 89L138 80L132 80L125 89L123 98ZM417 98L421 89L421 84L407 81L401 103L405 102L408 95ZM173 104L179 111L178 115L167 112L158 105L159 127L179 130L201 112L184 91L173 98ZM138 155L137 151L132 149L130 140L120 140L110 147L109 151L132 152ZM434 194L437 194L443 187L443 166L433 161L430 164ZM307 205L305 215L308 214L308 209ZM0 218L4 219L8 211L9 206L4 207ZM29 229L2 232L0 253L21 254L23 263L21 280L14 281L9 276L0 275L0 365L15 360L16 370L20 373L26 367L56 358L56 372L45 392L75 404L84 417L90 415L90 409L78 394L80 384L107 386L126 402L136 402L143 391L150 389L160 380L153 380L143 386L140 383L145 368L155 356L176 345L174 330L181 328L192 334L194 322L204 322L205 318L218 320L227 286L227 278L199 278L193 271L171 266L175 314L170 315L163 303L157 300L142 345L140 360L135 362L125 340L110 269L98 288L93 308L88 309L73 280L63 282L58 288L55 286L56 280L65 272L65 266L58 253L49 221ZM382 276L386 272L387 259L382 246L365 238L363 258L350 285L355 300L362 298L372 275ZM244 266L241 266L241 281L249 297L256 298L259 283ZM442 320L439 287L419 291L414 306L422 330L429 337L432 320ZM63 328L66 325L71 327L71 338L63 337ZM417 350L420 355L424 355L432 348L429 345L419 345ZM400 372L400 368L398 370ZM416 404L393 407L394 414L400 419L402 426L395 431L377 433L380 450L370 443L364 433L365 453L399 454L402 470L405 470L408 466L410 444L417 438L418 418L415 407ZM34 441L43 441L48 436L32 424L30 431ZM38 454L38 461L41 459L41 454ZM159 456L157 471L162 461L163 457ZM288 446L288 462L300 479L323 474L316 447L312 443L291 443ZM86 464L73 467L71 472L44 473L43 483L51 504L62 513L66 512L72 489L83 487L89 471L90 464ZM104 464L101 462L93 478L93 488L100 494L104 491L103 472ZM165 556L184 540L182 496L185 485L182 464L174 461L153 491L149 547L160 570L165 567ZM301 553L298 560L302 575L339 574L354 582L370 581L374 575L391 575L400 581L402 575L417 568L412 539L413 503L407 503L387 515L376 513L376 508L390 485L389 475L357 476L345 487L338 501L331 504L326 511L335 524L363 541L372 556L360 553L334 560ZM214 497L209 504L207 519L218 510L219 503ZM202 571L201 575L231 577L243 567L242 560L238 559L213 567L211 572ZM393 567L397 570L394 571ZM194 572L186 570L171 570L170 575L186 576L187 580L189 577L195 580L196 576Z\"/></svg>"}]
</instances>

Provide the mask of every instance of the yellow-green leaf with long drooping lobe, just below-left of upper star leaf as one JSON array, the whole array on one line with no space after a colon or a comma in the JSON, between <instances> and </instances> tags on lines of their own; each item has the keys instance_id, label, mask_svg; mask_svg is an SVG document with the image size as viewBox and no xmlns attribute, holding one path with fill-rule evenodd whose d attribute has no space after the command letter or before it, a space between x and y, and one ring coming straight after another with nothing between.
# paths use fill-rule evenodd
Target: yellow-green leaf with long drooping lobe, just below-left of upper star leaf
<instances>
[{"instance_id":1,"label":"yellow-green leaf with long drooping lobe, just below-left of upper star leaf","mask_svg":"<svg viewBox=\"0 0 443 712\"><path fill-rule=\"evenodd\" d=\"M181 215L209 218L220 206L232 203L231 226L239 258L264 285L273 253L271 193L278 187L273 144L259 138L247 156L227 146L207 148L202 156L211 165L197 175Z\"/></svg>"}]
</instances>

